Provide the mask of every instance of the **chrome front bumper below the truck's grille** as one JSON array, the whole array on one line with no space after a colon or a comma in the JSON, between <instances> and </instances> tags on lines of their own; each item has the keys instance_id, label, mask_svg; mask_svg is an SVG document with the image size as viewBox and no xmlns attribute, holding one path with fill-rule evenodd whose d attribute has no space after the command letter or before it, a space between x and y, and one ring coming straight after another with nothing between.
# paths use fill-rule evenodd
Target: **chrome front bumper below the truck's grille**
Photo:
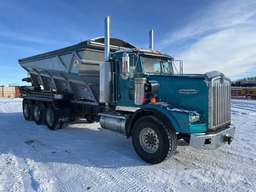
<instances>
[{"instance_id":1,"label":"chrome front bumper below the truck's grille","mask_svg":"<svg viewBox=\"0 0 256 192\"><path fill-rule=\"evenodd\" d=\"M216 132L191 134L189 145L194 148L215 150L234 138L235 125L231 124L228 128L217 130ZM230 144L230 142L229 142Z\"/></svg>"}]
</instances>

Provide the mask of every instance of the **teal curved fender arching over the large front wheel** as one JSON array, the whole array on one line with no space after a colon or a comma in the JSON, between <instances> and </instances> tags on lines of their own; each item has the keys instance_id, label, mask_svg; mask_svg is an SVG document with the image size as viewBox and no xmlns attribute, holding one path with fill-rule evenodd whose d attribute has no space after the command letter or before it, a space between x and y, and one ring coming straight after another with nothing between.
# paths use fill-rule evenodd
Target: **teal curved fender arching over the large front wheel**
<instances>
[{"instance_id":1,"label":"teal curved fender arching over the large front wheel","mask_svg":"<svg viewBox=\"0 0 256 192\"><path fill-rule=\"evenodd\" d=\"M139 118L152 114L156 114L157 116L162 118L168 124L169 127L174 129L175 132L180 132L180 127L178 123L166 108L154 104L146 104L143 108L136 110L134 114L132 114L127 130L128 136L131 135L132 128Z\"/></svg>"}]
</instances>

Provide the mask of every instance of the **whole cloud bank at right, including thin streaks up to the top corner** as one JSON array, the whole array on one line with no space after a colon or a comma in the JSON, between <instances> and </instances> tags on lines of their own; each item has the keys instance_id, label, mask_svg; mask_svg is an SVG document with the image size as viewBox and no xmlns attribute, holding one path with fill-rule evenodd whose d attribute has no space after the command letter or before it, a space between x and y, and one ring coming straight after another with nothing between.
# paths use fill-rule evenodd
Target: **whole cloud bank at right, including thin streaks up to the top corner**
<instances>
[{"instance_id":1,"label":"whole cloud bank at right, including thin streaks up to the top corner","mask_svg":"<svg viewBox=\"0 0 256 192\"><path fill-rule=\"evenodd\" d=\"M228 1L210 6L194 21L167 36L160 46L185 47L176 53L184 73L224 72L231 78L255 72L256 3ZM252 75L252 74L251 74Z\"/></svg>"}]
</instances>

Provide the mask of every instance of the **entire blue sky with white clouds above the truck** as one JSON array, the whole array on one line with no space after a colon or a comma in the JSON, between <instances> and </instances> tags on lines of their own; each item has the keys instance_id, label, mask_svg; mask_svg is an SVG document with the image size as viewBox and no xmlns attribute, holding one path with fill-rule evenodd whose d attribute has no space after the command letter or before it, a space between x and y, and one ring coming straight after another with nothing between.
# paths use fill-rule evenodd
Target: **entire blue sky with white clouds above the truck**
<instances>
[{"instance_id":1,"label":"entire blue sky with white clouds above the truck","mask_svg":"<svg viewBox=\"0 0 256 192\"><path fill-rule=\"evenodd\" d=\"M0 1L0 85L27 76L24 58L103 36L154 48L184 62L185 73L224 72L233 80L256 76L256 2L180 1Z\"/></svg>"}]
</instances>

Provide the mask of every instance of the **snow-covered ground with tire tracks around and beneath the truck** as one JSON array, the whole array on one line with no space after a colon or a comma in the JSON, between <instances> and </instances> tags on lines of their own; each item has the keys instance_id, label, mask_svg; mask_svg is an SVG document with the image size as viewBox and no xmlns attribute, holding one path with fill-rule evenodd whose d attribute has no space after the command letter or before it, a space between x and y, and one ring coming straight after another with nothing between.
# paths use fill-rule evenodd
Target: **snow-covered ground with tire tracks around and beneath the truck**
<instances>
[{"instance_id":1,"label":"snow-covered ground with tire tracks around and beneath the truck","mask_svg":"<svg viewBox=\"0 0 256 192\"><path fill-rule=\"evenodd\" d=\"M232 100L232 121L231 145L179 140L173 158L151 165L98 123L51 131L24 119L21 99L0 99L0 191L256 191L256 101Z\"/></svg>"}]
</instances>

